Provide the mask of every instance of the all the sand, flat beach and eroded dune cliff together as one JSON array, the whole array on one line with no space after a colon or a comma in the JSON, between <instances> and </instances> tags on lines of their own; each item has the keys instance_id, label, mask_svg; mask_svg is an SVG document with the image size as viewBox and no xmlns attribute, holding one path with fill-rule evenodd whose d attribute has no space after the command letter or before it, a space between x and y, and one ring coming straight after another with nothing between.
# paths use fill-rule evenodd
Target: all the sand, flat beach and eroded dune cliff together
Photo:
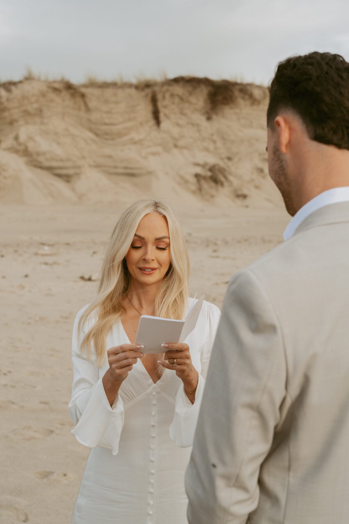
<instances>
[{"instance_id":1,"label":"all the sand, flat beach and eroded dune cliff together","mask_svg":"<svg viewBox=\"0 0 349 524\"><path fill-rule=\"evenodd\" d=\"M89 452L67 412L72 327L126 204L174 204L190 293L219 307L230 276L282 242L266 92L230 89L0 84L1 523L70 522Z\"/></svg>"}]
</instances>

